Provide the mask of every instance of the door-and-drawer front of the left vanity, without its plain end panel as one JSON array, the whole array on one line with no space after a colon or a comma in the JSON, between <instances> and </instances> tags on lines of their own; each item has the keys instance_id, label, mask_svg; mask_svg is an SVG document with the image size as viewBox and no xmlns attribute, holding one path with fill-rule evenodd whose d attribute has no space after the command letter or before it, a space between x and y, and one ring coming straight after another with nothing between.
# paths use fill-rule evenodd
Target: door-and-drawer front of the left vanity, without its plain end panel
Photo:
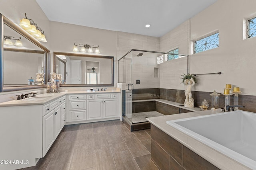
<instances>
[{"instance_id":1,"label":"door-and-drawer front of the left vanity, without its plain end panel","mask_svg":"<svg viewBox=\"0 0 256 170\"><path fill-rule=\"evenodd\" d=\"M43 157L66 123L66 96L42 106Z\"/></svg>"}]
</instances>

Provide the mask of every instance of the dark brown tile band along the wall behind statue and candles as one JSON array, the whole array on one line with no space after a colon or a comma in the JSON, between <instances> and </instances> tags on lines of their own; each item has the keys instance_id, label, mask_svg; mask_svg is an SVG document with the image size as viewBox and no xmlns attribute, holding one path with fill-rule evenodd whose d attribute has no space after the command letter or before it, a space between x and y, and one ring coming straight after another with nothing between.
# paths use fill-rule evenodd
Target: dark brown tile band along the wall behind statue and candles
<instances>
[{"instance_id":1,"label":"dark brown tile band along the wall behind statue and candles","mask_svg":"<svg viewBox=\"0 0 256 170\"><path fill-rule=\"evenodd\" d=\"M206 99L210 104L210 94L212 92L192 91L192 98L194 99L194 106L195 107L201 106L202 101L204 99ZM133 94L133 96L137 95L137 97L133 98L132 100L145 100L145 99L160 98L160 99L168 100L171 102L177 102L182 105L184 105L185 98L186 98L184 90L165 89L165 88L134 89L132 94ZM148 94L152 94L154 96L149 96ZM158 95L159 95L159 97L158 97ZM139 98L138 96L143 96L143 98ZM147 96L147 98L145 96ZM244 108L240 108L241 110L251 111L251 112L256 113L256 107L254 107L256 105L256 96L241 94L238 96L238 104L245 106ZM140 105L142 106L142 104L140 104ZM146 104L146 105L148 105L148 104ZM230 105L234 105L234 95L230 96ZM225 96L220 95L220 108L224 107L224 106L225 106ZM157 105L156 105L156 108L157 108ZM135 110L133 110L133 111L135 111ZM141 110L139 112L141 112Z\"/></svg>"}]
</instances>

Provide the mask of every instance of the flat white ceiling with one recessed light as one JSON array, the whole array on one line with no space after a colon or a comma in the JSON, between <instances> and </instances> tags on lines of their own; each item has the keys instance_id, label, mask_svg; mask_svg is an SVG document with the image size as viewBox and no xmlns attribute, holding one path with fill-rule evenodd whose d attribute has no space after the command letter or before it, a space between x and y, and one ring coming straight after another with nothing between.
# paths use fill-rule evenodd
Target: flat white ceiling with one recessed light
<instances>
[{"instance_id":1,"label":"flat white ceiling with one recessed light","mask_svg":"<svg viewBox=\"0 0 256 170\"><path fill-rule=\"evenodd\" d=\"M36 0L50 21L161 37L217 0ZM151 26L146 28L145 25Z\"/></svg>"}]
</instances>

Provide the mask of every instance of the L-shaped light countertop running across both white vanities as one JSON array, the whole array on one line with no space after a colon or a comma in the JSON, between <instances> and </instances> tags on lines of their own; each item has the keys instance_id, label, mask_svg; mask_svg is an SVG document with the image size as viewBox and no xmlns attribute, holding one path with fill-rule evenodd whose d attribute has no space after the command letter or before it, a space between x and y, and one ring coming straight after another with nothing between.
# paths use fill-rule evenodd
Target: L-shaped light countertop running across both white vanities
<instances>
[{"instance_id":1,"label":"L-shaped light countertop running across both white vanities","mask_svg":"<svg viewBox=\"0 0 256 170\"><path fill-rule=\"evenodd\" d=\"M106 91L70 91L70 92L59 92L59 93L44 93L38 94L36 97L29 97L22 100L11 100L8 102L0 103L0 107L6 106L28 106L28 105L44 105L48 102L52 102L66 94L99 94L99 93L120 93L118 90L106 90Z\"/></svg>"}]
</instances>

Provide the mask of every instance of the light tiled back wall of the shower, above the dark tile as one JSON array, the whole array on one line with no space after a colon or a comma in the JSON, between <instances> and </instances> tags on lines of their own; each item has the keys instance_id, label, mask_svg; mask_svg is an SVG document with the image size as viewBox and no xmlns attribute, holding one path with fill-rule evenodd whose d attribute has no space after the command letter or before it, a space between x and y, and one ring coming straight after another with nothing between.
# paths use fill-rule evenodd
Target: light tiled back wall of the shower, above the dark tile
<instances>
[{"instance_id":1,"label":"light tiled back wall of the shower, above the dark tile","mask_svg":"<svg viewBox=\"0 0 256 170\"><path fill-rule=\"evenodd\" d=\"M118 59L131 49L160 51L160 38L117 32ZM141 57L137 57L138 53L139 52L136 51L133 52L132 83L134 84L134 88L160 88L160 77L154 78L154 68L160 67L160 65L157 64L157 55L142 52L143 55ZM136 84L137 79L140 80L140 84Z\"/></svg>"}]
</instances>

